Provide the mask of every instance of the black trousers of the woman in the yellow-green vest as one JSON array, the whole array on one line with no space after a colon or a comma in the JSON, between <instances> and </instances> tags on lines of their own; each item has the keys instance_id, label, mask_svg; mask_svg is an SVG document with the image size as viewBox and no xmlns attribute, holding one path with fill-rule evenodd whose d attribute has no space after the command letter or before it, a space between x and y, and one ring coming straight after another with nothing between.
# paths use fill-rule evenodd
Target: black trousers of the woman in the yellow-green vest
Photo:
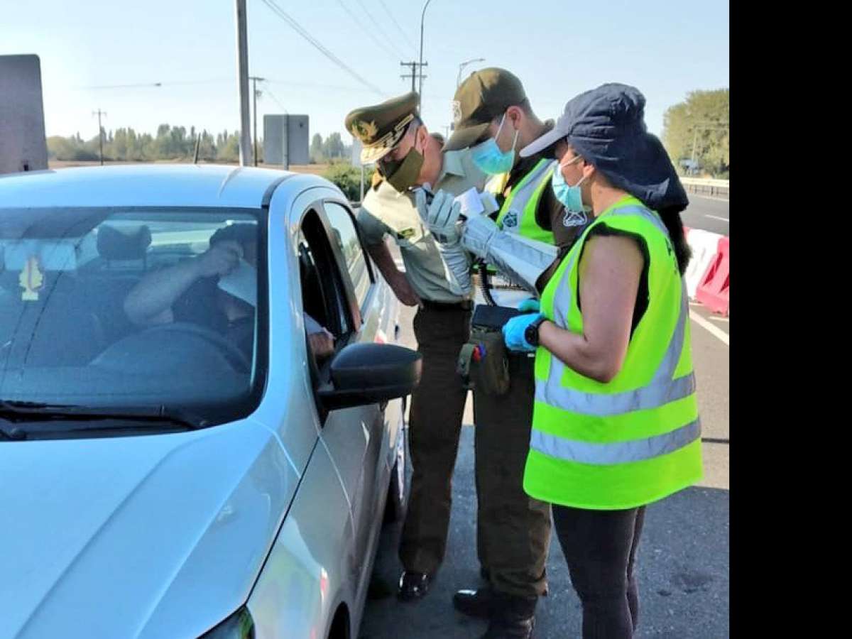
<instances>
[{"instance_id":1,"label":"black trousers of the woman in the yellow-green vest","mask_svg":"<svg viewBox=\"0 0 852 639\"><path fill-rule=\"evenodd\" d=\"M583 639L629 639L639 618L636 549L645 506L586 510L553 504L553 523L583 603Z\"/></svg>"}]
</instances>

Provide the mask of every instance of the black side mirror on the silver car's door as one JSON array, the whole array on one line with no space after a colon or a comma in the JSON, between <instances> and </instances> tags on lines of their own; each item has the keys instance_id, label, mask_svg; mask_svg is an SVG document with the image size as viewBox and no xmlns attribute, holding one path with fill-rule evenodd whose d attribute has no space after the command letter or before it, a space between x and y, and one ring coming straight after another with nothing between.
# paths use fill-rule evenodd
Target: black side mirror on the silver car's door
<instances>
[{"instance_id":1,"label":"black side mirror on the silver car's door","mask_svg":"<svg viewBox=\"0 0 852 639\"><path fill-rule=\"evenodd\" d=\"M405 397L420 383L423 355L394 344L349 344L331 360L331 383L318 394L325 409Z\"/></svg>"}]
</instances>

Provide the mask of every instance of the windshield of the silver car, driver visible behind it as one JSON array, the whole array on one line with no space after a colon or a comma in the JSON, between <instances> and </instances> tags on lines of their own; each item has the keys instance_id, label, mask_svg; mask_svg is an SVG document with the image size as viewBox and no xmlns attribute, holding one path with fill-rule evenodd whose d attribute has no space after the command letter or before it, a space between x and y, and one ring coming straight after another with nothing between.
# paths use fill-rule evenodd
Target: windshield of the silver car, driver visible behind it
<instances>
[{"instance_id":1,"label":"windshield of the silver car, driver visible behind it","mask_svg":"<svg viewBox=\"0 0 852 639\"><path fill-rule=\"evenodd\" d=\"M0 208L0 401L248 414L265 370L264 215Z\"/></svg>"}]
</instances>

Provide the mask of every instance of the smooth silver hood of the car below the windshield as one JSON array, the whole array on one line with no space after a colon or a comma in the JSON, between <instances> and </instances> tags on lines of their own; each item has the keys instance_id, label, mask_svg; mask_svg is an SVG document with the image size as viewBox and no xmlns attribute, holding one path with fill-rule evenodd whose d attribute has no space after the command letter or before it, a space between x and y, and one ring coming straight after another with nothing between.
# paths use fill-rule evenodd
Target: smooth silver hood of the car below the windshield
<instances>
[{"instance_id":1,"label":"smooth silver hood of the car below the windshield","mask_svg":"<svg viewBox=\"0 0 852 639\"><path fill-rule=\"evenodd\" d=\"M0 637L198 636L249 596L297 481L250 420L0 442Z\"/></svg>"}]
</instances>

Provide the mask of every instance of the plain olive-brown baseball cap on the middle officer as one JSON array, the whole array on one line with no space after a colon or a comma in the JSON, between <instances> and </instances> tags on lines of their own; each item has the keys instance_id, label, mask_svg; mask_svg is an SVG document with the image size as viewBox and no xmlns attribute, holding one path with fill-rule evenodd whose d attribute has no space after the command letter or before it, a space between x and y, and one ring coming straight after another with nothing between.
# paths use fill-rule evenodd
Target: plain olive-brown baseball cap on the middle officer
<instances>
[{"instance_id":1,"label":"plain olive-brown baseball cap on the middle officer","mask_svg":"<svg viewBox=\"0 0 852 639\"><path fill-rule=\"evenodd\" d=\"M514 73L495 66L471 73L453 96L453 130L444 151L473 146L494 118L526 100L527 93Z\"/></svg>"}]
</instances>

